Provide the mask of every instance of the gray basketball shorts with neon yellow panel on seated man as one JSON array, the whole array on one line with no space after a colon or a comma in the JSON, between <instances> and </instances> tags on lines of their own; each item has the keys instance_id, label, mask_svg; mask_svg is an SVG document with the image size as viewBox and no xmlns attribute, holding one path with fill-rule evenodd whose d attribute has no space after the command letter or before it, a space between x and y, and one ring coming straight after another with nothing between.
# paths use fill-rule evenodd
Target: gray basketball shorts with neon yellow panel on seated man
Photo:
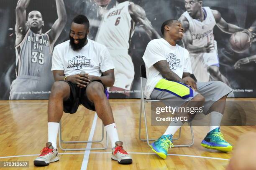
<instances>
[{"instance_id":1,"label":"gray basketball shorts with neon yellow panel on seated man","mask_svg":"<svg viewBox=\"0 0 256 170\"><path fill-rule=\"evenodd\" d=\"M197 91L181 82L161 79L151 93L150 98L151 100L162 100L166 105L175 103L176 106L177 103L179 107L192 100L196 95L201 94L205 97L203 113L206 115L214 102L232 92L228 85L220 81L197 82L196 84Z\"/></svg>"}]
</instances>

